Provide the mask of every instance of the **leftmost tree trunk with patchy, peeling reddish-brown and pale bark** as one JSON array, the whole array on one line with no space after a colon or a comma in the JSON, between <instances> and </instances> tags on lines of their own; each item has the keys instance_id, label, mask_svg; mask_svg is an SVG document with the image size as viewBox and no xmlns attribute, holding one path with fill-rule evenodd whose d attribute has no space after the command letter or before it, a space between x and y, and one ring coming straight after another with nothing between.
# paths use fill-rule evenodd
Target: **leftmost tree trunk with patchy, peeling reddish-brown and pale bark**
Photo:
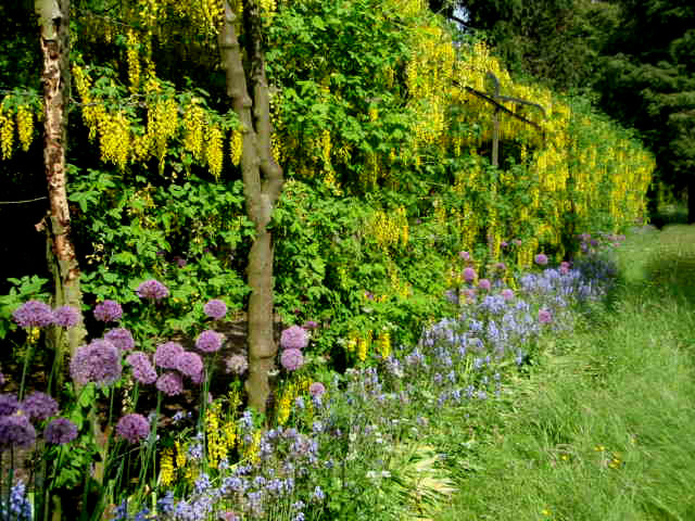
<instances>
[{"instance_id":1,"label":"leftmost tree trunk with patchy, peeling reddish-brown and pale bark","mask_svg":"<svg viewBox=\"0 0 695 521\"><path fill-rule=\"evenodd\" d=\"M54 306L70 305L81 309L79 266L70 238L65 149L67 145L67 102L70 98L70 0L35 0L39 16L40 45L43 56L43 165L50 211L47 218L48 256L55 281ZM58 329L58 328L56 328ZM65 353L73 353L85 338L80 323L64 335L54 331L56 370ZM50 392L50 390L49 390Z\"/></svg>"}]
</instances>

